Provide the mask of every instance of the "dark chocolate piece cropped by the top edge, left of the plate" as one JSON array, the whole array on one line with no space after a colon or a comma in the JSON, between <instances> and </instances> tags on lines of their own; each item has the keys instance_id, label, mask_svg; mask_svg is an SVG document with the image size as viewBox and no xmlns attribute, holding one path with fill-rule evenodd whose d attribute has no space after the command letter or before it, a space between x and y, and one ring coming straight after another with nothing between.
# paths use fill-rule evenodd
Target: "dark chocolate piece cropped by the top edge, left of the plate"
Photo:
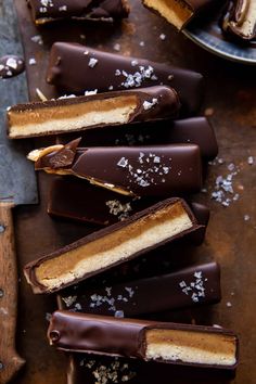
<instances>
[{"instance_id":1,"label":"dark chocolate piece cropped by the top edge, left of the plate","mask_svg":"<svg viewBox=\"0 0 256 384\"><path fill-rule=\"evenodd\" d=\"M114 22L129 15L127 0L27 0L36 25L57 20Z\"/></svg>"}]
</instances>

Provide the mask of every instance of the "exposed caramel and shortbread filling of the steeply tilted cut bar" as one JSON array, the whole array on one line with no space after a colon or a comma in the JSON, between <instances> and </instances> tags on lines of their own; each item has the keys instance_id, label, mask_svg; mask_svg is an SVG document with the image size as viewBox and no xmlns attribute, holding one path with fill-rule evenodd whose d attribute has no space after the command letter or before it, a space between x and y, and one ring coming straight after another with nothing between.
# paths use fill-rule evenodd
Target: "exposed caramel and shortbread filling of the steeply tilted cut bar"
<instances>
[{"instance_id":1,"label":"exposed caramel and shortbread filling of the steeply tilted cut bar","mask_svg":"<svg viewBox=\"0 0 256 384\"><path fill-rule=\"evenodd\" d=\"M180 202L165 206L100 239L69 247L35 268L37 281L49 290L81 279L88 273L126 260L132 255L175 236L193 222Z\"/></svg>"}]
</instances>

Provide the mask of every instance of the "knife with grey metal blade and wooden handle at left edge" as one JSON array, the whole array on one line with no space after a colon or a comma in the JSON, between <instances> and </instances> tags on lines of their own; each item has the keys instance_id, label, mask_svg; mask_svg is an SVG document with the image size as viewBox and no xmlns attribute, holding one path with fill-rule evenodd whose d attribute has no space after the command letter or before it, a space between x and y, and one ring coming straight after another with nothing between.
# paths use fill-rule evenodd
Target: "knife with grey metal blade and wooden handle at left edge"
<instances>
[{"instance_id":1,"label":"knife with grey metal blade and wooden handle at left edge","mask_svg":"<svg viewBox=\"0 0 256 384\"><path fill-rule=\"evenodd\" d=\"M11 0L0 1L0 56L22 54L17 21ZM25 360L15 348L17 270L12 208L36 204L37 183L26 159L30 145L10 142L5 132L5 110L27 101L25 75L0 79L0 383L8 383Z\"/></svg>"}]
</instances>

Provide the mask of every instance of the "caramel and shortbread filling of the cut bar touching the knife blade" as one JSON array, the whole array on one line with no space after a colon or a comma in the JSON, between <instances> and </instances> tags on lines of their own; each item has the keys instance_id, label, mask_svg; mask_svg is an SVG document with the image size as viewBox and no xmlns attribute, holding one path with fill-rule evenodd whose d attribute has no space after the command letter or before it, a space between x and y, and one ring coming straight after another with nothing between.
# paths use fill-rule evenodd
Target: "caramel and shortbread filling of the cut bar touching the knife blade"
<instances>
[{"instance_id":1,"label":"caramel and shortbread filling of the cut bar touching the knife blade","mask_svg":"<svg viewBox=\"0 0 256 384\"><path fill-rule=\"evenodd\" d=\"M49 135L75 131L95 125L126 124L138 106L136 95L127 94L102 100L88 100L64 105L46 105L11 110L9 137Z\"/></svg>"}]
</instances>

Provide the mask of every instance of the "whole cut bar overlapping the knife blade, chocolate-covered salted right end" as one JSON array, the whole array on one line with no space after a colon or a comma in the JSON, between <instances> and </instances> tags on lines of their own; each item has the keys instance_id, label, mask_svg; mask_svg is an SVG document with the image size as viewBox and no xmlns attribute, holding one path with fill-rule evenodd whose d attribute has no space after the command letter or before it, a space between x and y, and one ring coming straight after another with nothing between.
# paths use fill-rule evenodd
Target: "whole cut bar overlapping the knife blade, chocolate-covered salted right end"
<instances>
[{"instance_id":1,"label":"whole cut bar overlapping the knife blade, chocolate-covered salted right end","mask_svg":"<svg viewBox=\"0 0 256 384\"><path fill-rule=\"evenodd\" d=\"M174 118L179 107L176 91L162 86L17 104L8 111L8 135L20 139Z\"/></svg>"}]
</instances>

